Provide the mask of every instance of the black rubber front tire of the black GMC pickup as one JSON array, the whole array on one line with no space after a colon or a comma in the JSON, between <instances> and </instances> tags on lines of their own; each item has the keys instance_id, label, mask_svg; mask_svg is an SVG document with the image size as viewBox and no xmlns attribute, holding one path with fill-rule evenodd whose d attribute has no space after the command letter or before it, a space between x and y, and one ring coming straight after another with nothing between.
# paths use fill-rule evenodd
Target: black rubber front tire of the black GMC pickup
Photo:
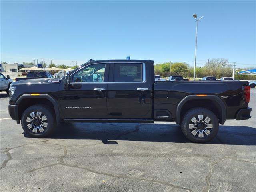
<instances>
[{"instance_id":1,"label":"black rubber front tire of the black GMC pickup","mask_svg":"<svg viewBox=\"0 0 256 192\"><path fill-rule=\"evenodd\" d=\"M34 112L34 115L31 116L30 114L32 114L32 112ZM37 112L40 112L41 114ZM44 116L46 117L46 120L43 120L45 119ZM29 122L30 120L27 118L30 118L33 122ZM32 126L29 124L32 124ZM44 138L49 136L56 127L54 111L46 105L32 105L23 112L21 126L24 132L30 137Z\"/></svg>"}]
</instances>

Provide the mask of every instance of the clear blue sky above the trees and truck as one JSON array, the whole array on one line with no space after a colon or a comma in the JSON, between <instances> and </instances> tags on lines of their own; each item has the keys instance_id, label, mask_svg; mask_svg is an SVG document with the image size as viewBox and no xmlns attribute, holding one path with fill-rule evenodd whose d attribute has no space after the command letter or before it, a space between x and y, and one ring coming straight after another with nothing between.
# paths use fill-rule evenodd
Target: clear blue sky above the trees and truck
<instances>
[{"instance_id":1,"label":"clear blue sky above the trees and truck","mask_svg":"<svg viewBox=\"0 0 256 192\"><path fill-rule=\"evenodd\" d=\"M256 66L255 1L1 1L1 61L82 64L88 59L155 63L227 58Z\"/></svg>"}]
</instances>

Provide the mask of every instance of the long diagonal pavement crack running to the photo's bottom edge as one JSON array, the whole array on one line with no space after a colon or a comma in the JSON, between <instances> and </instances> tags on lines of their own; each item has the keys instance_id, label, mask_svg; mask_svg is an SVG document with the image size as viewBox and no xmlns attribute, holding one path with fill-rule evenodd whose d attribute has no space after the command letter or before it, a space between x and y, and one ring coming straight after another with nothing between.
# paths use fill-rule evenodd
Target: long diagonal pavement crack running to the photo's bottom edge
<instances>
[{"instance_id":1,"label":"long diagonal pavement crack running to the photo's bottom edge","mask_svg":"<svg viewBox=\"0 0 256 192\"><path fill-rule=\"evenodd\" d=\"M87 171L95 173L95 174L106 175L106 176L110 176L110 177L114 177L114 178L124 178L124 179L132 179L132 180L139 180L139 181L146 181L146 182L154 182L154 183L159 183L159 184L163 184L163 185L166 185L166 186L170 186L172 188L177 188L177 189L182 189L182 190L186 190L186 191L189 191L189 192L193 192L189 188L174 185L174 184L164 182L164 181L160 181L160 180L152 180L152 179L146 179L146 178L131 177L131 176L126 176L126 175L116 175L116 174L111 174L111 173L98 172L98 171L92 170L90 168L80 167L80 166L75 166L75 165L70 165L70 164L62 164L62 165L68 166L68 167L79 168L79 169L87 170Z\"/></svg>"}]
</instances>

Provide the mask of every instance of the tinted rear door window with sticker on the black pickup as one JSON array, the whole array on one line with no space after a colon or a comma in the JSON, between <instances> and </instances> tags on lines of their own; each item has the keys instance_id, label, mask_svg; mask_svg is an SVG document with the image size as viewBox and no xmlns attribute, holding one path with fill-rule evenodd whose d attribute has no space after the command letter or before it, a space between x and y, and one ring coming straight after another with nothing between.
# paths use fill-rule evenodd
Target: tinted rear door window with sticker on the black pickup
<instances>
[{"instance_id":1,"label":"tinted rear door window with sticker on the black pickup","mask_svg":"<svg viewBox=\"0 0 256 192\"><path fill-rule=\"evenodd\" d=\"M142 82L142 63L115 63L114 82Z\"/></svg>"}]
</instances>

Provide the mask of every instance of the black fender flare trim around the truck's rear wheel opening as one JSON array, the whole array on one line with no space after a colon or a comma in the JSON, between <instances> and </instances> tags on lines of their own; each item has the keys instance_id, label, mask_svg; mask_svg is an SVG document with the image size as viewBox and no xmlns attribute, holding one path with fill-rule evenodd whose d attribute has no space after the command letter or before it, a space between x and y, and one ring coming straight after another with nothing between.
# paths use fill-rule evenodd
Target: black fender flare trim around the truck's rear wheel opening
<instances>
[{"instance_id":1,"label":"black fender flare trim around the truck's rear wheel opening","mask_svg":"<svg viewBox=\"0 0 256 192\"><path fill-rule=\"evenodd\" d=\"M196 95L188 95L186 97L184 97L178 104L177 108L176 108L176 123L180 124L180 114L181 114L181 109L184 106L184 104L186 104L186 102L188 102L189 100L195 100L195 99L200 99L200 100L213 100L215 102L218 103L218 108L220 107L221 109L221 116L219 119L219 123L220 124L224 124L226 121L226 104L222 101L221 98L219 98L216 95L207 95L207 96L196 96Z\"/></svg>"}]
</instances>

